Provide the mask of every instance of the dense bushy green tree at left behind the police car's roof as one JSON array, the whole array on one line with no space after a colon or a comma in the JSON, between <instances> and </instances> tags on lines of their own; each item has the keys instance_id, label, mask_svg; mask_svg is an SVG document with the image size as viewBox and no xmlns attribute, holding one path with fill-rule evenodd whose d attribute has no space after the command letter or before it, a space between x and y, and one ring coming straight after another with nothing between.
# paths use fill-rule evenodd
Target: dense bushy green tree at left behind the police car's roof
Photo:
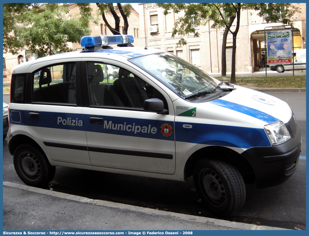
<instances>
[{"instance_id":1,"label":"dense bushy green tree at left behind the police car's roof","mask_svg":"<svg viewBox=\"0 0 309 236\"><path fill-rule=\"evenodd\" d=\"M72 18L67 4L3 3L3 51L17 54L24 49L38 57L71 51L68 43L78 43L90 34L89 3L77 3L80 17Z\"/></svg>"}]
</instances>

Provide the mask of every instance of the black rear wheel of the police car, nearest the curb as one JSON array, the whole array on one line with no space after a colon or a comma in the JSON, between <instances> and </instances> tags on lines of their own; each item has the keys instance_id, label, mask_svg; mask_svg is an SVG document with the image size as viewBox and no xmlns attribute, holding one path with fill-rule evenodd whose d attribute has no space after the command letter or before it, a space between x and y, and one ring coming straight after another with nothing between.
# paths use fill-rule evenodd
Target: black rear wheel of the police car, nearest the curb
<instances>
[{"instance_id":1,"label":"black rear wheel of the police car, nearest the curb","mask_svg":"<svg viewBox=\"0 0 309 236\"><path fill-rule=\"evenodd\" d=\"M29 186L46 187L55 176L56 167L35 146L19 145L14 152L13 162L17 175Z\"/></svg>"}]
</instances>

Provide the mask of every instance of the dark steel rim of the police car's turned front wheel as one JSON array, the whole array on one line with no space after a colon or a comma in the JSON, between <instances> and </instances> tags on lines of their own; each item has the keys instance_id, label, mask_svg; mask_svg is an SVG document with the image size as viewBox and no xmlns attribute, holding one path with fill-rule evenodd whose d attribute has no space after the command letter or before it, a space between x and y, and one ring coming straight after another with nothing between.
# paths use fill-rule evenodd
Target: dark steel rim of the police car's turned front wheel
<instances>
[{"instance_id":1,"label":"dark steel rim of the police car's turned front wheel","mask_svg":"<svg viewBox=\"0 0 309 236\"><path fill-rule=\"evenodd\" d=\"M201 187L208 202L214 207L221 207L226 201L226 191L218 174L205 168L201 172Z\"/></svg>"}]
</instances>

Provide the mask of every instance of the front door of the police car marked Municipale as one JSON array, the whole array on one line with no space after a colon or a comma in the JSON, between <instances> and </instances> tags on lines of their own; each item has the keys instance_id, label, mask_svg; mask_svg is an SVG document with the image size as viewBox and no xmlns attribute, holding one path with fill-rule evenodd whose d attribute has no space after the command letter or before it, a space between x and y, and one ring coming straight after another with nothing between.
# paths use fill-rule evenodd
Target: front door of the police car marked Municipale
<instances>
[{"instance_id":1,"label":"front door of the police car marked Municipale","mask_svg":"<svg viewBox=\"0 0 309 236\"><path fill-rule=\"evenodd\" d=\"M82 65L82 77L88 81L84 91L89 106L83 109L83 120L91 164L173 174L175 115L167 94L137 70L119 62L87 58L82 59ZM119 78L104 77L100 66L107 65L119 69ZM143 110L144 100L154 97L164 100L168 115Z\"/></svg>"}]
</instances>

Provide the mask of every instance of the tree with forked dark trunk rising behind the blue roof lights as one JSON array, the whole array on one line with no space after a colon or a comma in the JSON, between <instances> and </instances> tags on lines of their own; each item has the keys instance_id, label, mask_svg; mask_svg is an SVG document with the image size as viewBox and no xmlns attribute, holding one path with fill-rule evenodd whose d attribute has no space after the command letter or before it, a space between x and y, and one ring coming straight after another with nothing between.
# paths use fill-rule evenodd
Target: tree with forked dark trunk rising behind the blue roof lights
<instances>
[{"instance_id":1,"label":"tree with forked dark trunk rising behind the blue roof lights","mask_svg":"<svg viewBox=\"0 0 309 236\"><path fill-rule=\"evenodd\" d=\"M131 4L126 3L123 5L121 3L117 3L117 5L114 6L113 3L97 3L97 6L99 8L100 14L102 15L102 19L104 20L104 23L106 24L106 26L112 32L113 35L120 34L120 17L116 13L116 11L119 10L123 18L123 21L124 21L124 27L122 30L122 34L128 33L128 27L129 27L128 18L133 9ZM106 19L105 14L111 14L113 16L114 22L115 22L114 28L110 25L110 23Z\"/></svg>"}]
</instances>

